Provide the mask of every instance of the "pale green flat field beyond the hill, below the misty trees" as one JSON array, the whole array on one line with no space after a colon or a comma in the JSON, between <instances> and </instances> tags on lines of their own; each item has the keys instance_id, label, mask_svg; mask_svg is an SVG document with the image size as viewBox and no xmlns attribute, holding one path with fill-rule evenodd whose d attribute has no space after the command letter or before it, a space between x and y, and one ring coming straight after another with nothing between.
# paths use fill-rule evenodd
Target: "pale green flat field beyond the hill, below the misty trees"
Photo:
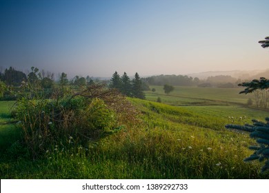
<instances>
[{"instance_id":1,"label":"pale green flat field beyond the hill, below the misty trees","mask_svg":"<svg viewBox=\"0 0 269 193\"><path fill-rule=\"evenodd\" d=\"M248 99L253 99L252 94L239 94L243 88L197 88L175 86L170 94L165 94L163 86L152 85L155 92L146 91L146 98L157 101L161 97L163 103L170 105L227 105L238 103L245 105Z\"/></svg>"}]
</instances>

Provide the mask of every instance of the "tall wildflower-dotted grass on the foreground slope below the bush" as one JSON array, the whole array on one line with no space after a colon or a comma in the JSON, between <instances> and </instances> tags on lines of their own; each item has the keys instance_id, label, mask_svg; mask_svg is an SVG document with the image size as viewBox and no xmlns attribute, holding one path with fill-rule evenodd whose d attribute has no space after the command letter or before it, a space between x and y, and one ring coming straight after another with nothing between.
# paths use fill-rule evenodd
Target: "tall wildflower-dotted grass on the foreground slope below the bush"
<instances>
[{"instance_id":1,"label":"tall wildflower-dotted grass on the foreground slope below the bush","mask_svg":"<svg viewBox=\"0 0 269 193\"><path fill-rule=\"evenodd\" d=\"M1 178L268 179L268 174L259 173L259 163L243 162L255 141L248 134L225 130L220 117L129 100L141 112L141 123L88 145L77 145L75 139L67 139L65 146L54 143L34 162L4 160Z\"/></svg>"}]
</instances>

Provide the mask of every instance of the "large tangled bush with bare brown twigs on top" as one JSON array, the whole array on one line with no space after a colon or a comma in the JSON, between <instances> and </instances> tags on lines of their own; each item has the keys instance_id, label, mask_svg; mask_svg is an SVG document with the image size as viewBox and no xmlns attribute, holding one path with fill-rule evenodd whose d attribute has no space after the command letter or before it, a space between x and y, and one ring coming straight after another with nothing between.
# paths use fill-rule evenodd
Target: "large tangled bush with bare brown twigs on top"
<instances>
[{"instance_id":1,"label":"large tangled bush with bare brown twigs on top","mask_svg":"<svg viewBox=\"0 0 269 193\"><path fill-rule=\"evenodd\" d=\"M103 85L92 85L83 92L56 99L22 97L13 114L21 122L23 143L34 158L53 145L66 148L70 139L86 145L89 139L138 120L132 105L119 92Z\"/></svg>"}]
</instances>

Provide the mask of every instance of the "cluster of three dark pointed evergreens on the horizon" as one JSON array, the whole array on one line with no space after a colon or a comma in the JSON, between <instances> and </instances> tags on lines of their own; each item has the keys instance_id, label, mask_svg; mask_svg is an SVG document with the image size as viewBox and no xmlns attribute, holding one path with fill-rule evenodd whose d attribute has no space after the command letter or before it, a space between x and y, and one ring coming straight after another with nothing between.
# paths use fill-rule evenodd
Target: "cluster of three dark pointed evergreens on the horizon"
<instances>
[{"instance_id":1,"label":"cluster of three dark pointed evergreens on the horizon","mask_svg":"<svg viewBox=\"0 0 269 193\"><path fill-rule=\"evenodd\" d=\"M146 90L149 89L148 86L145 85L144 81L141 80L138 73L135 73L135 77L131 80L126 72L120 76L117 71L112 75L109 86L110 88L119 90L119 92L126 96L139 99L145 99L143 90L145 90L145 88Z\"/></svg>"}]
</instances>

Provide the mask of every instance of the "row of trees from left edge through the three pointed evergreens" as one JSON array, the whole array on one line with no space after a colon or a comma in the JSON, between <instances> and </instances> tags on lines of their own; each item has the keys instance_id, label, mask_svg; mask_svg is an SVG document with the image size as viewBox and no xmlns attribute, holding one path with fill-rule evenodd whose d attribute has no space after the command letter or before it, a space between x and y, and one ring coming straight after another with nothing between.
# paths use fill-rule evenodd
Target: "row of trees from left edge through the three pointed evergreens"
<instances>
[{"instance_id":1,"label":"row of trees from left edge through the three pointed evergreens","mask_svg":"<svg viewBox=\"0 0 269 193\"><path fill-rule=\"evenodd\" d=\"M68 79L68 75L64 72L59 74L59 79L55 81L54 73L45 72L35 67L30 68L28 74L12 67L0 68L0 99L14 100L19 92L41 93L46 98L50 98L55 90L63 94L69 88L82 90L99 82L98 79L93 80L89 76L75 76L73 79ZM109 88L116 88L126 96L139 99L145 99L143 91L149 90L148 85L144 79L139 77L138 73L131 80L126 72L121 77L115 72L110 81L102 82L108 85Z\"/></svg>"}]
</instances>

